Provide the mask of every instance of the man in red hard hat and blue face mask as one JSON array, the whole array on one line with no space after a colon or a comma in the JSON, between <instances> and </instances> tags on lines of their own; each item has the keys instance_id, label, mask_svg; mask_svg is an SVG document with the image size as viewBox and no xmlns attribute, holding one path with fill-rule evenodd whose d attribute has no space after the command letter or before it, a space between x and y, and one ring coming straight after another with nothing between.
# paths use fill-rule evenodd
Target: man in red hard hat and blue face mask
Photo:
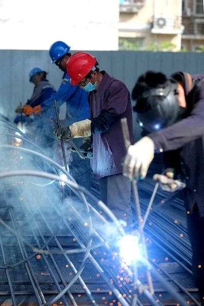
<instances>
[{"instance_id":1,"label":"man in red hard hat and blue face mask","mask_svg":"<svg viewBox=\"0 0 204 306\"><path fill-rule=\"evenodd\" d=\"M90 118L62 126L54 133L64 139L92 139L91 167L100 183L100 198L115 216L132 224L131 183L122 175L121 160L125 155L120 119L126 117L131 142L133 119L130 92L106 71L99 71L96 58L78 52L67 61L70 84L88 92Z\"/></svg>"}]
</instances>

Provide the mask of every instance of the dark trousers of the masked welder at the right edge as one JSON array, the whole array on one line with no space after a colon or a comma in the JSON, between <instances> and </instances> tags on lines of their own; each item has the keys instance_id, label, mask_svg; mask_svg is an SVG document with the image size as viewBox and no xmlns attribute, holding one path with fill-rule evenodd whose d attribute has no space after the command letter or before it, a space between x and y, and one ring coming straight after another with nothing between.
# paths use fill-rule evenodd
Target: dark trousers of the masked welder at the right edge
<instances>
[{"instance_id":1,"label":"dark trousers of the masked welder at the right edge","mask_svg":"<svg viewBox=\"0 0 204 306\"><path fill-rule=\"evenodd\" d=\"M204 306L204 218L199 216L196 204L187 216L188 236L193 249L192 272Z\"/></svg>"}]
</instances>

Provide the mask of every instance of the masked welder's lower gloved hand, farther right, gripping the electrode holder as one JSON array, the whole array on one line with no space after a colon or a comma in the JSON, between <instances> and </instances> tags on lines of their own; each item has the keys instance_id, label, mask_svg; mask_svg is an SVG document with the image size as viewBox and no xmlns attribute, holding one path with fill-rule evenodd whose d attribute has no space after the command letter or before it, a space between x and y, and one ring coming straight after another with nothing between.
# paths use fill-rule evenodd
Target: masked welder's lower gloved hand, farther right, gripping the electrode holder
<instances>
[{"instance_id":1,"label":"masked welder's lower gloved hand, farther right, gripping the electrode holder","mask_svg":"<svg viewBox=\"0 0 204 306\"><path fill-rule=\"evenodd\" d=\"M167 183L165 182L165 178L161 178L160 180L158 180L159 182L159 186L162 188L162 190L164 191L168 191L168 192L175 192L177 190L181 190L183 188L185 188L183 186L184 183L181 182L181 180L175 180L175 169L173 168L167 168L162 175L164 177L166 177L167 179L172 179L173 182L172 183ZM185 184L184 184L185 185Z\"/></svg>"}]
</instances>

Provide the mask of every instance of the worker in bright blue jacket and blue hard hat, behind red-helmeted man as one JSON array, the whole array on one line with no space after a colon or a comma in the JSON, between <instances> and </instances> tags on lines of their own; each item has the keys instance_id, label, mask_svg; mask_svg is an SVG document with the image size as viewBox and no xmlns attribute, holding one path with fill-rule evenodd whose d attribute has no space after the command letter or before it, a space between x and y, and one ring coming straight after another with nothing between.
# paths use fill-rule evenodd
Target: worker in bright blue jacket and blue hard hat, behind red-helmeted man
<instances>
[{"instance_id":1,"label":"worker in bright blue jacket and blue hard hat, behind red-helmeted man","mask_svg":"<svg viewBox=\"0 0 204 306\"><path fill-rule=\"evenodd\" d=\"M58 91L53 93L47 100L40 104L38 111L45 118L49 115L55 116L54 99L57 100L58 107L66 103L66 125L70 125L75 121L84 120L89 117L89 104L87 92L82 90L79 86L71 86L69 83L69 75L66 71L66 63L70 58L69 52L70 46L63 41L56 41L50 46L49 56L52 59L52 63L55 63L60 70L64 72L62 84ZM27 109L27 115L32 113L32 108ZM83 145L81 139L75 139L75 144L80 147ZM70 174L73 175L74 179L81 185L84 185L88 189L90 188L90 162L88 159L81 160L76 152L72 154L73 161L69 165ZM83 175L86 173L85 175Z\"/></svg>"}]
</instances>

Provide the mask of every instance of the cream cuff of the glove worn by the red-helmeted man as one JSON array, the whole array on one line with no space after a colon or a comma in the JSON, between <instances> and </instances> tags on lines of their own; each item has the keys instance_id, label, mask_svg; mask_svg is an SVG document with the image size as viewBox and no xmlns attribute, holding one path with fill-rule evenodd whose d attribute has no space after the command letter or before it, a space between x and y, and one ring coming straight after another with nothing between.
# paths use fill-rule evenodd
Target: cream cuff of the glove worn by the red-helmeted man
<instances>
[{"instance_id":1,"label":"cream cuff of the glove worn by the red-helmeted man","mask_svg":"<svg viewBox=\"0 0 204 306\"><path fill-rule=\"evenodd\" d=\"M69 125L71 138L91 136L91 120L86 119Z\"/></svg>"}]
</instances>

